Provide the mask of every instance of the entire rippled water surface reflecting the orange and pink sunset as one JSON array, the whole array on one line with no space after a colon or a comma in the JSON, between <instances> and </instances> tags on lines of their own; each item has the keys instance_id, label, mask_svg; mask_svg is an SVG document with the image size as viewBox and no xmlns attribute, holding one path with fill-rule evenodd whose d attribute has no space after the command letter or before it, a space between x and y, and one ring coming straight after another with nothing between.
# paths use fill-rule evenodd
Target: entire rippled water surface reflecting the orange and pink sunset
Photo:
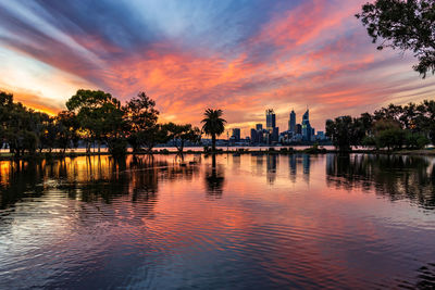
<instances>
[{"instance_id":1,"label":"entire rippled water surface reflecting the orange and pink sunset","mask_svg":"<svg viewBox=\"0 0 435 290\"><path fill-rule=\"evenodd\" d=\"M325 287L435 287L435 159L0 162L0 289Z\"/></svg>"}]
</instances>

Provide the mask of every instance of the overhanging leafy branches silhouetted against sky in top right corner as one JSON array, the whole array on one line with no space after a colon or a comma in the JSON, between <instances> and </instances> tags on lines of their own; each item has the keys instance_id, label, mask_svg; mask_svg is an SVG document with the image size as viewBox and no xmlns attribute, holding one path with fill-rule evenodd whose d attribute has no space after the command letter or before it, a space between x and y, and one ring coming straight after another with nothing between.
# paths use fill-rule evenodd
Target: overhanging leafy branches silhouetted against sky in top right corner
<instances>
[{"instance_id":1,"label":"overhanging leafy branches silhouetted against sky in top right corner","mask_svg":"<svg viewBox=\"0 0 435 290\"><path fill-rule=\"evenodd\" d=\"M377 47L412 51L419 64L414 71L423 78L435 73L435 1L433 0L376 0L362 7L356 15L366 27Z\"/></svg>"}]
</instances>

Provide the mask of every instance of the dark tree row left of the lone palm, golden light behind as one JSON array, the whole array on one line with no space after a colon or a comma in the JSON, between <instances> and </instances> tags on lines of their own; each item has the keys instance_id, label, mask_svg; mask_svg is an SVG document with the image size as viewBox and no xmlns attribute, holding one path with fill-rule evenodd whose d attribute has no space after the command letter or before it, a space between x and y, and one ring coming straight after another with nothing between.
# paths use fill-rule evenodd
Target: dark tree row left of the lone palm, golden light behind
<instances>
[{"instance_id":1,"label":"dark tree row left of the lone palm, golden light behind","mask_svg":"<svg viewBox=\"0 0 435 290\"><path fill-rule=\"evenodd\" d=\"M201 130L190 124L159 124L156 102L145 92L124 105L101 90L80 89L66 102L67 110L55 116L37 112L14 102L13 94L0 91L0 147L8 146L15 156L78 147L98 152L105 146L111 154L127 151L151 152L170 140L183 152L187 141L198 142Z\"/></svg>"}]
</instances>

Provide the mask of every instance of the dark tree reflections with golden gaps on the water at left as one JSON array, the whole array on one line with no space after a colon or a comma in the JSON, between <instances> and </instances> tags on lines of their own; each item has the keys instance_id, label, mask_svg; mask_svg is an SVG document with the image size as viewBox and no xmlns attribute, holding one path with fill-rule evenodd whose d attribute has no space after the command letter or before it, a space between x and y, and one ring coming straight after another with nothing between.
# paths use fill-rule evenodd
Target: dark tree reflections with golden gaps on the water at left
<instances>
[{"instance_id":1,"label":"dark tree reflections with golden gaps on the water at left","mask_svg":"<svg viewBox=\"0 0 435 290\"><path fill-rule=\"evenodd\" d=\"M156 201L159 180L191 179L198 173L198 166L170 164L148 155L66 157L50 164L8 162L0 176L0 206L5 209L29 194L40 197L49 187L84 202L112 203L119 197Z\"/></svg>"}]
</instances>

